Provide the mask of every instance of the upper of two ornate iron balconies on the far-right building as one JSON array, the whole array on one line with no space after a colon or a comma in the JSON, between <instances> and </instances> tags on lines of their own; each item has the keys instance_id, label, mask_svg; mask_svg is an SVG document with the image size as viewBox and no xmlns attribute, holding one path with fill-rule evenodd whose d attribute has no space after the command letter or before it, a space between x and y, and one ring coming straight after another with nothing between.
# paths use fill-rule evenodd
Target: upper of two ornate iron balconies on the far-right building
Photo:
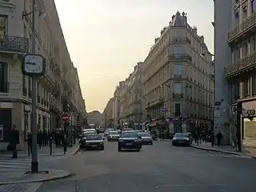
<instances>
[{"instance_id":1,"label":"upper of two ornate iron balconies on the far-right building","mask_svg":"<svg viewBox=\"0 0 256 192\"><path fill-rule=\"evenodd\" d=\"M238 42L240 39L245 38L250 34L255 33L256 26L256 12L250 17L240 22L234 29L226 33L226 43Z\"/></svg>"}]
</instances>

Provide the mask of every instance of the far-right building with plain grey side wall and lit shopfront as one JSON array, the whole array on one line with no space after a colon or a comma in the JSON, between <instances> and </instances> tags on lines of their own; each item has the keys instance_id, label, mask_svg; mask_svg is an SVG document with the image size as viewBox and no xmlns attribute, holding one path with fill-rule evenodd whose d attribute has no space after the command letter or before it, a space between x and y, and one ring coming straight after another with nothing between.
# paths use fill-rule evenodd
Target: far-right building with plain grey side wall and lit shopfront
<instances>
[{"instance_id":1,"label":"far-right building with plain grey side wall and lit shopfront","mask_svg":"<svg viewBox=\"0 0 256 192\"><path fill-rule=\"evenodd\" d=\"M256 147L256 1L215 1L214 8L217 44L215 58L218 57L216 67L222 70L219 74L222 75L222 82L219 84L223 85L216 87L216 91L222 92L223 110L227 111L218 118L218 123L222 129L224 127L229 130L230 143L233 143L236 137L242 137L242 146ZM222 16L226 19L222 19ZM222 29L219 29L219 26ZM241 111L238 110L238 114L237 103L241 103Z\"/></svg>"}]
</instances>

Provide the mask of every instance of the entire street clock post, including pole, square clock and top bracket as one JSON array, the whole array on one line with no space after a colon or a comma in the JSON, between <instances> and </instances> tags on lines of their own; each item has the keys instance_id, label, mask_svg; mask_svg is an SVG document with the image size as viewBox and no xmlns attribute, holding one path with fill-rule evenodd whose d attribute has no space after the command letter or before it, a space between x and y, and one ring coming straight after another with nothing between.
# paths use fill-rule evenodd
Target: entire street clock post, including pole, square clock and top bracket
<instances>
[{"instance_id":1,"label":"entire street clock post, including pole, square clock and top bracket","mask_svg":"<svg viewBox=\"0 0 256 192\"><path fill-rule=\"evenodd\" d=\"M31 111L31 131L32 131L32 162L31 162L31 173L38 173L38 144L37 144L37 116L36 116L36 81L39 75L42 75L46 71L46 60L42 58L42 55L35 54L35 15L36 11L39 11L39 14L45 14L41 10L35 8L35 0L32 2L32 11L22 13L22 18L27 15L32 14L32 35L31 35L31 47L32 53L27 54L22 58L22 72L23 74L30 75L32 78L32 111Z\"/></svg>"}]
</instances>

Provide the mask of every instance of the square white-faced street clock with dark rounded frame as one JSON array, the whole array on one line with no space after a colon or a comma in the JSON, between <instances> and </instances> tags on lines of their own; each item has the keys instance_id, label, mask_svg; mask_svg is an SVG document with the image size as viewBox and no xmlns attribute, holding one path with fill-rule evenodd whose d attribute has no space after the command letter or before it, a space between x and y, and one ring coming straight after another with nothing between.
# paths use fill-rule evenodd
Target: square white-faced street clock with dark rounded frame
<instances>
[{"instance_id":1,"label":"square white-faced street clock with dark rounded frame","mask_svg":"<svg viewBox=\"0 0 256 192\"><path fill-rule=\"evenodd\" d=\"M26 54L22 57L22 73L42 75L46 72L46 59L40 54Z\"/></svg>"}]
</instances>

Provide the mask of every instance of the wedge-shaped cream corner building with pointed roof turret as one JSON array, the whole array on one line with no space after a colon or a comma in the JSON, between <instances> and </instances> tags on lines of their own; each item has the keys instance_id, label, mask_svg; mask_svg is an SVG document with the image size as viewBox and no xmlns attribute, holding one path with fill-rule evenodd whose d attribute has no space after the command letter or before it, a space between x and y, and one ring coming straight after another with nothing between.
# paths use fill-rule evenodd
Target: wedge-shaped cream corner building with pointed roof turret
<instances>
[{"instance_id":1,"label":"wedge-shaped cream corner building with pointed roof turret","mask_svg":"<svg viewBox=\"0 0 256 192\"><path fill-rule=\"evenodd\" d=\"M181 123L182 131L209 128L214 117L213 74L212 54L203 36L188 24L184 12L177 12L144 61L146 117L165 117L170 132L180 131Z\"/></svg>"}]
</instances>

